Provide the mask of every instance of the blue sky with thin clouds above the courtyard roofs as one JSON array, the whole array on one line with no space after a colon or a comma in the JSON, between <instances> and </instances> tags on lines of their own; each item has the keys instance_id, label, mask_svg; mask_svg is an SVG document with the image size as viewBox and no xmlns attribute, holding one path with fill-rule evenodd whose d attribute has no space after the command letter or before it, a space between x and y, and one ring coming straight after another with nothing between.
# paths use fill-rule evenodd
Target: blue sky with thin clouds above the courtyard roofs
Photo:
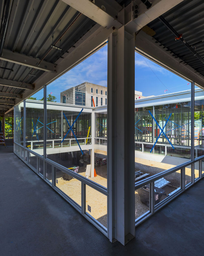
<instances>
[{"instance_id":1,"label":"blue sky with thin clouds above the courtyard roofs","mask_svg":"<svg viewBox=\"0 0 204 256\"><path fill-rule=\"evenodd\" d=\"M57 102L60 102L60 92L86 81L107 86L107 45L50 83L47 93L52 92L57 97ZM187 83L188 81L135 52L135 90L141 91L144 96L190 89L190 84ZM164 92L165 90L167 91ZM33 97L41 99L43 90Z\"/></svg>"}]
</instances>

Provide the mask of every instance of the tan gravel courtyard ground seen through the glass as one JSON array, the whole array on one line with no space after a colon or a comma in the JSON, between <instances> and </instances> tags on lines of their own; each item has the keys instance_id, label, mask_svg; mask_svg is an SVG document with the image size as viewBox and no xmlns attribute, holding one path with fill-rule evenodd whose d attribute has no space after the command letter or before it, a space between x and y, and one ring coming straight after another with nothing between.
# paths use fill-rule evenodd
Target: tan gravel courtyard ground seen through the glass
<instances>
[{"instance_id":1,"label":"tan gravel courtyard ground seen through the glass","mask_svg":"<svg viewBox=\"0 0 204 256\"><path fill-rule=\"evenodd\" d=\"M107 152L95 150L97 157L107 157ZM79 174L85 176L85 166L80 167ZM170 169L174 165L159 163L146 159L135 158L135 170L141 170L143 173L149 173L149 177L156 173L160 173L164 170ZM107 165L95 166L97 176L94 177L94 182L107 187ZM195 177L198 177L198 170L195 170ZM63 180L61 177L57 177L58 183L56 184L65 194L72 198L77 204L81 206L81 182L77 179ZM170 174L165 177L170 181L170 185L180 187L180 171ZM186 168L186 180L187 183L191 180L191 169ZM176 188L166 185L163 189L167 194L174 191ZM162 196L161 200L165 199ZM160 200L160 201L161 201ZM91 207L91 212L88 211L88 205ZM149 207L140 201L137 191L135 191L135 219L143 215L149 210ZM86 211L98 220L102 225L107 227L107 197L95 189L86 186Z\"/></svg>"}]
</instances>

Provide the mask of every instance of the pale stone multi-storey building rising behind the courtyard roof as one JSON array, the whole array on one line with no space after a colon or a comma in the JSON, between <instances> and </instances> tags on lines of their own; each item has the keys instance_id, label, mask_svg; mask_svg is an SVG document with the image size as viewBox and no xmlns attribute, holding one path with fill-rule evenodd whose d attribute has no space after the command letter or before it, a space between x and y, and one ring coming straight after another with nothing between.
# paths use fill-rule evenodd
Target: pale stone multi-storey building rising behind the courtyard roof
<instances>
[{"instance_id":1,"label":"pale stone multi-storey building rising behind the courtyard roof","mask_svg":"<svg viewBox=\"0 0 204 256\"><path fill-rule=\"evenodd\" d=\"M92 98L96 107L107 105L107 87L84 82L60 93L60 103L66 104L91 107Z\"/></svg>"}]
</instances>

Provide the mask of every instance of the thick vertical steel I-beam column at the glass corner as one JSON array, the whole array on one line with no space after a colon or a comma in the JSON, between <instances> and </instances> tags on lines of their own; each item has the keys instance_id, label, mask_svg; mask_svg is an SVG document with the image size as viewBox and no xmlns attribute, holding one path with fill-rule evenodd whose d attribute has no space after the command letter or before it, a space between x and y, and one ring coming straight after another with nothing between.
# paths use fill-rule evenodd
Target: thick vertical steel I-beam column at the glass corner
<instances>
[{"instance_id":1,"label":"thick vertical steel I-beam column at the glass corner","mask_svg":"<svg viewBox=\"0 0 204 256\"><path fill-rule=\"evenodd\" d=\"M134 44L124 26L108 39L108 234L123 245L135 236Z\"/></svg>"}]
</instances>

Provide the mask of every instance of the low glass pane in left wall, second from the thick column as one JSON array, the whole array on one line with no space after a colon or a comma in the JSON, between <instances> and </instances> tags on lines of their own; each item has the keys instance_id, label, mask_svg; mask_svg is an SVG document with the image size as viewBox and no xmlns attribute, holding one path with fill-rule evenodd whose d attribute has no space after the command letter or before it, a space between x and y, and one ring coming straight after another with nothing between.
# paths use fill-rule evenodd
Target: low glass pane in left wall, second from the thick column
<instances>
[{"instance_id":1,"label":"low glass pane in left wall, second from the thick column","mask_svg":"<svg viewBox=\"0 0 204 256\"><path fill-rule=\"evenodd\" d=\"M81 182L78 179L55 168L55 186L81 206Z\"/></svg>"}]
</instances>

